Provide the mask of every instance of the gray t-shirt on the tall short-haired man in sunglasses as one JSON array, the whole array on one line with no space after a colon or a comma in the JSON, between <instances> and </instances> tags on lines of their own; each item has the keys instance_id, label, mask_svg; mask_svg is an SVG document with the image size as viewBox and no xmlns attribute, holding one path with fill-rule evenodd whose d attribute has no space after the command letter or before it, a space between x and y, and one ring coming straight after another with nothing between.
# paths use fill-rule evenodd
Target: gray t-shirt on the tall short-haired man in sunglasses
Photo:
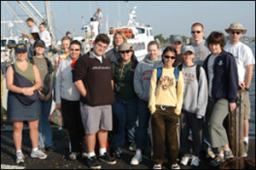
<instances>
[{"instance_id":1,"label":"gray t-shirt on the tall short-haired man in sunglasses","mask_svg":"<svg viewBox=\"0 0 256 170\"><path fill-rule=\"evenodd\" d=\"M190 45L195 49L195 58L193 59L193 63L202 66L205 59L207 59L207 56L211 54L211 51L207 46L207 41L203 40L199 44L191 43Z\"/></svg>"}]
</instances>

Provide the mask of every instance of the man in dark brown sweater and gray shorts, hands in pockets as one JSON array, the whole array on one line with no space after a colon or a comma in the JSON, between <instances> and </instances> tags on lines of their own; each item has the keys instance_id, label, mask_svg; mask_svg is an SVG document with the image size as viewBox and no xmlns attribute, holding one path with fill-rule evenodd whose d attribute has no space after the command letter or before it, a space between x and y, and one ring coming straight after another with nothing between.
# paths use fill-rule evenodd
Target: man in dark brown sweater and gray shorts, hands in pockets
<instances>
[{"instance_id":1,"label":"man in dark brown sweater and gray shorts, hands in pockets","mask_svg":"<svg viewBox=\"0 0 256 170\"><path fill-rule=\"evenodd\" d=\"M99 160L115 164L107 152L108 131L112 130L113 70L110 59L104 55L110 40L99 34L93 42L94 48L79 57L73 68L73 82L80 96L81 118L85 130L88 150L87 164L90 168L101 168L96 160L96 135L99 140Z\"/></svg>"}]
</instances>

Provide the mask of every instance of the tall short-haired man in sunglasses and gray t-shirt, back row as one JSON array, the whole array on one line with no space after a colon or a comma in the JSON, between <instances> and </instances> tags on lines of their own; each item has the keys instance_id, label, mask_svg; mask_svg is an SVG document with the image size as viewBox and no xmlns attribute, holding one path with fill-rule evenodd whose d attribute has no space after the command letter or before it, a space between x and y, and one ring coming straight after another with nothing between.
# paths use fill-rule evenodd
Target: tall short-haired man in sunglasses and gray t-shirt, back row
<instances>
[{"instance_id":1,"label":"tall short-haired man in sunglasses and gray t-shirt, back row","mask_svg":"<svg viewBox=\"0 0 256 170\"><path fill-rule=\"evenodd\" d=\"M196 22L191 26L191 35L194 42L191 42L190 45L195 48L195 58L193 59L193 62L202 66L207 55L211 54L207 46L207 41L203 39L203 36L205 35L204 26L202 26L201 23Z\"/></svg>"}]
</instances>

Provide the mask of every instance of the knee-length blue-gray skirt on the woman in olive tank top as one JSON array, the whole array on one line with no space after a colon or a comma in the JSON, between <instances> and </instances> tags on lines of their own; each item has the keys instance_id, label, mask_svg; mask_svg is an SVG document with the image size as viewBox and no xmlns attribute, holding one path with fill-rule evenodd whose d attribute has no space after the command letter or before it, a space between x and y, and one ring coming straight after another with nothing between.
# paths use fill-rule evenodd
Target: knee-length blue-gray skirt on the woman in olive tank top
<instances>
[{"instance_id":1,"label":"knee-length blue-gray skirt on the woman in olive tank top","mask_svg":"<svg viewBox=\"0 0 256 170\"><path fill-rule=\"evenodd\" d=\"M23 105L16 97L15 93L8 92L7 100L7 120L14 121L36 121L41 115L39 99L32 105Z\"/></svg>"}]
</instances>

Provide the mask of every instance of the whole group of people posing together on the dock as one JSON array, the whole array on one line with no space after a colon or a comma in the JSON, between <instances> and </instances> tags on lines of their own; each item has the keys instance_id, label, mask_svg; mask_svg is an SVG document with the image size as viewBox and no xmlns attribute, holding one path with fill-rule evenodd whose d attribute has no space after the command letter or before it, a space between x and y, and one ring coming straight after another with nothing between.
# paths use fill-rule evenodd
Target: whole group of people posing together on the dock
<instances>
[{"instance_id":1,"label":"whole group of people posing together on the dock","mask_svg":"<svg viewBox=\"0 0 256 170\"><path fill-rule=\"evenodd\" d=\"M121 31L115 33L114 48L106 54L110 40L105 34L99 34L90 52L83 55L80 42L63 37L64 54L54 66L44 56L44 41L35 42L36 54L29 62L26 46L18 44L17 61L6 74L7 116L14 123L16 163L24 162L24 121L30 127L32 157L45 159L44 148L55 150L47 119L53 90L55 108L61 109L70 139L69 158L82 156L90 168L101 168L98 160L115 164L125 139L129 150L136 151L131 165L138 165L143 150L148 149L148 126L154 169L160 169L165 160L165 146L172 169L180 168L179 154L180 164L187 166L190 161L198 167L202 148L212 157L212 166L234 157L223 122L229 111L236 110L237 95L244 95L247 147L248 91L255 59L252 50L239 41L246 33L241 24L232 23L226 31L230 34L227 43L224 33L218 31L204 40L204 27L195 23L191 26L194 42L183 46L181 37L175 36L161 56L160 44L149 42L148 54L141 62Z\"/></svg>"}]
</instances>

